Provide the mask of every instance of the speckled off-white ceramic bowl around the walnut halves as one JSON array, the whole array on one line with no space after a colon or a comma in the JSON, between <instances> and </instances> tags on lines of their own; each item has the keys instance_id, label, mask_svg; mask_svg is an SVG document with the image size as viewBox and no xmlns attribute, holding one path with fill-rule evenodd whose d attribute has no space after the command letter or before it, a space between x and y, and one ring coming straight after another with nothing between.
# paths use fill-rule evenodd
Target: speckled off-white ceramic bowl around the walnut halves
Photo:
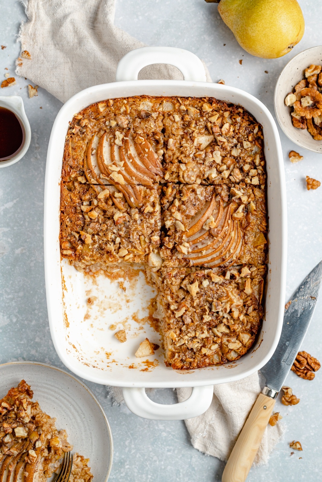
<instances>
[{"instance_id":1,"label":"speckled off-white ceramic bowl around the walnut halves","mask_svg":"<svg viewBox=\"0 0 322 482\"><path fill-rule=\"evenodd\" d=\"M274 108L277 120L285 135L295 144L322 154L322 141L316 141L307 129L297 129L291 119L291 107L285 106L284 99L295 85L305 79L304 70L311 64L322 65L322 45L304 50L295 55L283 68L276 82Z\"/></svg>"}]
</instances>

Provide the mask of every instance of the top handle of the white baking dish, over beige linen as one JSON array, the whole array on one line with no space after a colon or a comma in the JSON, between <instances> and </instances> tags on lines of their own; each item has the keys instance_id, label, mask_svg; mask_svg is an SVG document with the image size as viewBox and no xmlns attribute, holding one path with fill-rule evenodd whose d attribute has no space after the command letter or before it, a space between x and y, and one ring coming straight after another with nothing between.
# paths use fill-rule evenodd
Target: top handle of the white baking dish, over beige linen
<instances>
[{"instance_id":1,"label":"top handle of the white baking dish, over beige linen","mask_svg":"<svg viewBox=\"0 0 322 482\"><path fill-rule=\"evenodd\" d=\"M116 81L138 80L143 67L151 64L170 64L179 68L184 80L206 82L201 60L192 52L175 47L141 47L128 52L118 63Z\"/></svg>"}]
</instances>

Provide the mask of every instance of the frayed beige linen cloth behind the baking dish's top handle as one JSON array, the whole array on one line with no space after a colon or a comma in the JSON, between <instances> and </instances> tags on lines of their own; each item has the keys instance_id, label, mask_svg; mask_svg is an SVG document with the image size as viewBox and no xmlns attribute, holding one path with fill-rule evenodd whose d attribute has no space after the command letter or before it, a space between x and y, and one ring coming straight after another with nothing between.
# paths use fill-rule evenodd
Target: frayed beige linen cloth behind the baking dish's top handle
<instances>
[{"instance_id":1,"label":"frayed beige linen cloth behind the baking dish's top handle","mask_svg":"<svg viewBox=\"0 0 322 482\"><path fill-rule=\"evenodd\" d=\"M19 40L31 58L17 59L16 73L62 102L86 87L114 82L121 58L145 46L113 25L115 0L29 0L25 6L28 21ZM180 80L182 74L158 64L144 67L140 79Z\"/></svg>"}]
</instances>

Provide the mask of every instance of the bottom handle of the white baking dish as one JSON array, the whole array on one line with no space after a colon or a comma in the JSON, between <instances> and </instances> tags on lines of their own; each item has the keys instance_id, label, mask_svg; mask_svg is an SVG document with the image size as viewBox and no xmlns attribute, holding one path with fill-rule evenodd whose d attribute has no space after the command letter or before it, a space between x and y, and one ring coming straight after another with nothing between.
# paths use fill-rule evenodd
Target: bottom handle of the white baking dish
<instances>
[{"instance_id":1,"label":"bottom handle of the white baking dish","mask_svg":"<svg viewBox=\"0 0 322 482\"><path fill-rule=\"evenodd\" d=\"M123 388L127 407L135 415L149 420L185 420L203 414L210 407L213 385L194 387L184 402L163 405L149 399L145 388Z\"/></svg>"}]
</instances>

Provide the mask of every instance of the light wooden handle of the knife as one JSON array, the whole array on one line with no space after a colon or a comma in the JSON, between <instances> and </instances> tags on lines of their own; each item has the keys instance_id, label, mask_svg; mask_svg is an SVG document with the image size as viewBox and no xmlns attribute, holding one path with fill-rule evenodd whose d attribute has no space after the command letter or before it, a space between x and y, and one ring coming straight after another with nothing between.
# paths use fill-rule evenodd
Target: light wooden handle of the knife
<instances>
[{"instance_id":1,"label":"light wooden handle of the knife","mask_svg":"<svg viewBox=\"0 0 322 482\"><path fill-rule=\"evenodd\" d=\"M274 405L274 399L263 393L258 395L224 468L222 482L246 480Z\"/></svg>"}]
</instances>

